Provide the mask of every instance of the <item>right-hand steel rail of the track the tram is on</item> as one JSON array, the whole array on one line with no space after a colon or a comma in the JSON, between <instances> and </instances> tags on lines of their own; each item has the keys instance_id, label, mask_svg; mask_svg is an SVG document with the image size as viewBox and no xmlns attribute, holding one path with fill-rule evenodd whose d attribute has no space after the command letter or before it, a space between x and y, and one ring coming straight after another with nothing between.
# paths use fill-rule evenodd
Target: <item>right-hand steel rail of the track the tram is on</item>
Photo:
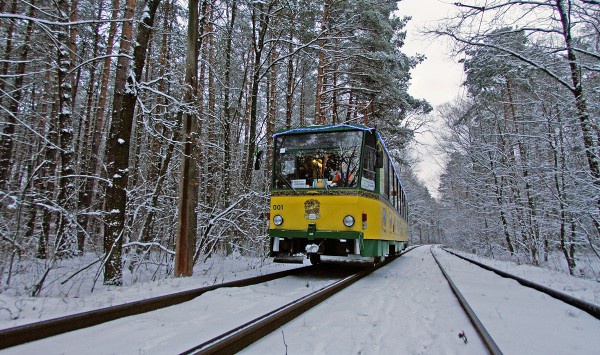
<instances>
[{"instance_id":1,"label":"right-hand steel rail of the track the tram is on","mask_svg":"<svg viewBox=\"0 0 600 355\"><path fill-rule=\"evenodd\" d=\"M255 318L250 322L214 337L192 349L186 350L182 354L234 354L239 352L294 318L297 318L307 310L327 300L337 292L345 289L361 278L389 264L397 257L406 254L413 249L415 249L415 247L407 249L395 256L388 257L385 261L374 267L363 269L354 275L325 286L316 292Z\"/></svg>"}]
</instances>

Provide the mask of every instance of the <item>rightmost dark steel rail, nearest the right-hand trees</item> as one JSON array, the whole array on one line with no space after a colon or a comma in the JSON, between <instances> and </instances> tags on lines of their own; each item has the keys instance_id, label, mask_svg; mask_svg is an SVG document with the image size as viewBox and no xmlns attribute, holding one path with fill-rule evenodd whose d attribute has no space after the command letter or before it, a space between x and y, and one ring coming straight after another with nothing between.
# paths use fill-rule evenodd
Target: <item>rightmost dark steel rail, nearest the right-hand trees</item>
<instances>
[{"instance_id":1,"label":"rightmost dark steel rail, nearest the right-hand trees","mask_svg":"<svg viewBox=\"0 0 600 355\"><path fill-rule=\"evenodd\" d=\"M450 253L450 254L452 254L452 255L454 255L456 257L459 257L459 258L461 258L461 259L463 259L465 261L473 263L473 264L475 264L475 265L477 265L477 266L479 266L481 268L484 268L484 269L486 269L488 271L495 272L497 275L502 276L504 278L513 279L513 280L517 281L518 283L520 283L523 286L530 287L530 288L533 288L533 289L535 289L537 291L543 292L543 293L545 293L545 294L547 294L549 296L552 296L552 297L554 297L554 298L556 298L556 299L558 299L560 301L563 301L563 302L565 302L567 304L570 304L573 307L576 307L576 308L578 308L578 309L580 309L582 311L585 311L585 312L589 313L590 315L592 315L596 319L600 319L600 306L598 306L598 305L586 302L586 301L584 301L582 299L573 297L571 295L564 294L564 293L562 293L560 291L553 290L553 289L551 289L549 287L542 286L540 284L537 284L535 282L526 280L526 279L521 278L519 276L515 276L515 275L512 275L512 274L509 274L508 272L505 272L505 271L502 271L502 270L498 270L498 269L493 268L493 267L491 267L489 265L483 264L483 263L481 263L479 261L467 258L465 256L462 256L462 255L457 254L455 252L452 252L450 250L446 250L445 248L442 248L442 249L445 252Z\"/></svg>"}]
</instances>

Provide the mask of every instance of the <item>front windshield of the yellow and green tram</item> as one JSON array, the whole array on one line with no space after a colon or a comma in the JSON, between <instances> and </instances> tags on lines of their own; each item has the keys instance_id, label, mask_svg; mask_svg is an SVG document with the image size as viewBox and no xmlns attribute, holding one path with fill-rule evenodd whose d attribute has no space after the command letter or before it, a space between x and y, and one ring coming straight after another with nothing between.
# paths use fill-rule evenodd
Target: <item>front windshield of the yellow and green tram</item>
<instances>
[{"instance_id":1,"label":"front windshield of the yellow and green tram","mask_svg":"<svg viewBox=\"0 0 600 355\"><path fill-rule=\"evenodd\" d=\"M356 187L362 131L281 135L275 140L276 189Z\"/></svg>"}]
</instances>

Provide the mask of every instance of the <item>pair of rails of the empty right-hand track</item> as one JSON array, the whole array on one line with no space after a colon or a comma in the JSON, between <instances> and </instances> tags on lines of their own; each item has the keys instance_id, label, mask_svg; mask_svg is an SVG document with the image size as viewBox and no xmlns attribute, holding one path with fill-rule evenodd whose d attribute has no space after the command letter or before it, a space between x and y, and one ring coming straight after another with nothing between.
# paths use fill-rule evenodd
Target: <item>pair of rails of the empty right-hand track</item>
<instances>
[{"instance_id":1,"label":"pair of rails of the empty right-hand track","mask_svg":"<svg viewBox=\"0 0 600 355\"><path fill-rule=\"evenodd\" d=\"M590 314L591 316L595 317L596 319L600 319L600 309L597 305L588 303L586 301L583 301L581 299L577 299L575 297L572 297L570 295L566 295L564 293L561 293L559 291L553 290L551 288L536 284L534 282L531 282L529 280L525 280L521 277L512 275L510 273L495 269L493 267L490 267L488 265L482 264L480 262L477 262L475 260L472 260L470 258L464 257L462 255L456 254L452 251L443 249L445 252L454 255L464 261L467 261L473 265L476 265L482 269L488 270L488 271L492 271L496 274L498 274L499 276L503 277L503 278L509 278L512 280L515 280L517 282L519 282L519 284L521 284L522 286L534 289L536 291L542 292L544 294L550 295L553 298L560 300L562 302L565 302L573 307L576 307L577 309L583 311L583 312L587 312L588 314ZM460 303L462 309L464 310L464 312L467 314L467 317L469 318L469 320L471 321L471 324L473 325L473 327L475 328L477 334L479 335L480 339L482 340L483 344L486 346L486 348L488 349L488 351L490 352L490 354L502 354L502 351L500 350L500 348L498 347L497 343L495 342L495 340L492 338L492 336L490 335L490 333L487 331L487 329L484 327L483 323L480 321L480 319L478 318L478 316L475 314L475 312L473 311L473 309L471 308L471 306L468 304L466 298L463 296L463 294L461 293L461 291L458 289L458 287L456 286L455 282L451 279L449 273L446 271L446 269L442 266L442 263L440 262L438 256L436 256L436 253L434 253L433 251L433 247L430 247L430 252L431 255L433 256L435 262L437 263L437 265L439 266L440 270L442 271L442 274L444 275L444 278L446 279L446 281L448 282L448 285L450 286L450 288L452 289L452 292L454 293L454 295L456 296L458 302ZM524 329L526 330L526 329ZM466 342L466 341L465 341Z\"/></svg>"}]
</instances>

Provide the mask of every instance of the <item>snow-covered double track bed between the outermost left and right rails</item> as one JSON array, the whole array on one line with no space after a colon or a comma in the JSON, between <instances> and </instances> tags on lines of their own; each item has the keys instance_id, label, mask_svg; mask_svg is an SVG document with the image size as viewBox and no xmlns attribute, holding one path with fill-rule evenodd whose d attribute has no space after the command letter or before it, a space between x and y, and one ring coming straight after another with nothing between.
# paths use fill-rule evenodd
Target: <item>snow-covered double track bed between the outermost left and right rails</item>
<instances>
[{"instance_id":1,"label":"snow-covered double track bed between the outermost left and right rails","mask_svg":"<svg viewBox=\"0 0 600 355\"><path fill-rule=\"evenodd\" d=\"M441 249L433 248L433 254L428 247L418 248L386 267L365 272L370 276L360 282L349 273L321 269L316 274L216 289L175 307L121 318L9 351L592 354L600 347L600 323L586 312ZM486 341L480 341L434 257L501 350L489 350ZM354 284L337 290L340 279ZM314 290L335 293L336 297L324 300L313 295ZM459 337L461 334L464 339L468 337L468 343Z\"/></svg>"}]
</instances>

